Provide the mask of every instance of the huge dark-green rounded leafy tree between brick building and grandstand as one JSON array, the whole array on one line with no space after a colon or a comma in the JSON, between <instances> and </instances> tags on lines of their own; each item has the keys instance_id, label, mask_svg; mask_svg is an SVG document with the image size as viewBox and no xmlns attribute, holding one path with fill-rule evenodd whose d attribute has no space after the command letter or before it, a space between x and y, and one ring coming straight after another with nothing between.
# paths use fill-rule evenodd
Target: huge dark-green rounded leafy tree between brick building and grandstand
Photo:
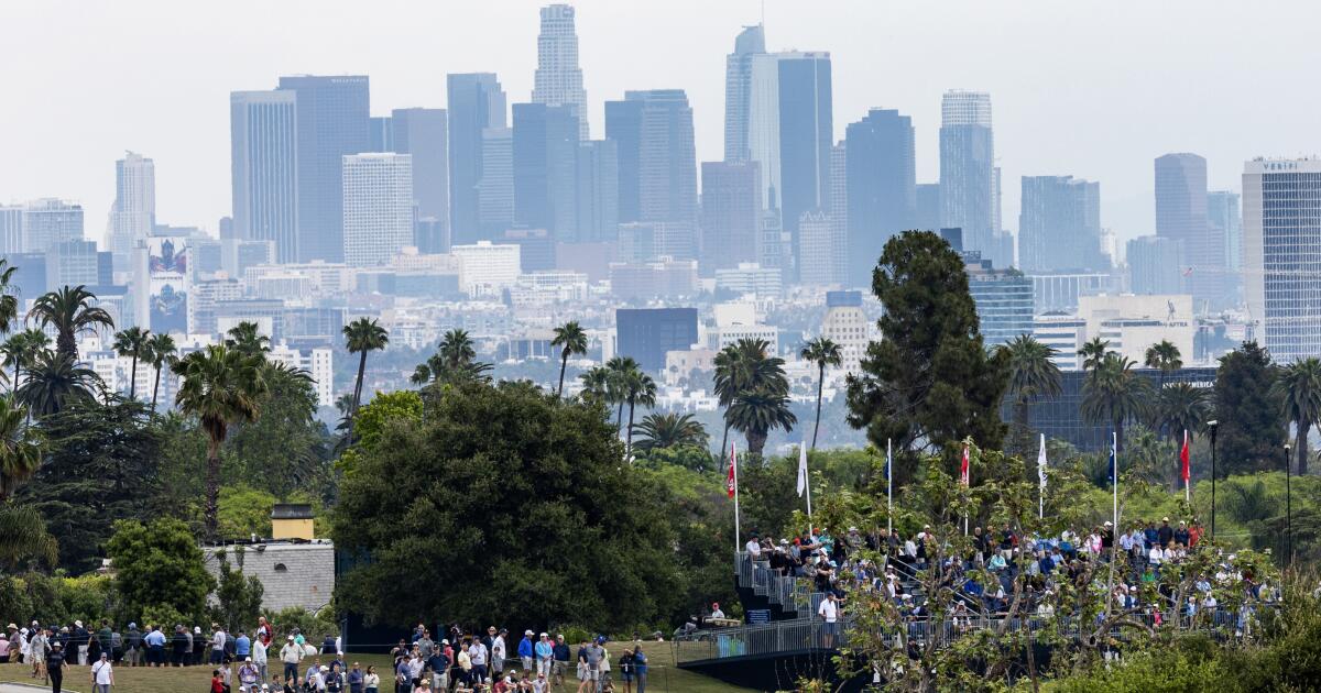
<instances>
[{"instance_id":1,"label":"huge dark-green rounded leafy tree between brick building and grandstand","mask_svg":"<svg viewBox=\"0 0 1321 693\"><path fill-rule=\"evenodd\" d=\"M341 487L336 546L363 561L337 603L394 624L627 628L670 614L674 533L605 417L527 383L466 383L421 424L390 426Z\"/></svg>"}]
</instances>

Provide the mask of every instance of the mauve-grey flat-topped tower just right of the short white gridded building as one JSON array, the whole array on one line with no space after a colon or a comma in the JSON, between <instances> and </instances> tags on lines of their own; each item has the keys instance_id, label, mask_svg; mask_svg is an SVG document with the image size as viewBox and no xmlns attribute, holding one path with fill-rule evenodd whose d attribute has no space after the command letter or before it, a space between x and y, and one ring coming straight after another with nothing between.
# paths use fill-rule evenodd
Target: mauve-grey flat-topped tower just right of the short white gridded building
<instances>
[{"instance_id":1,"label":"mauve-grey flat-topped tower just right of the short white gridded building","mask_svg":"<svg viewBox=\"0 0 1321 693\"><path fill-rule=\"evenodd\" d=\"M444 108L396 108L391 112L391 141L400 154L412 157L413 216L428 222L429 246L439 235L449 235L449 144L446 141L446 114ZM437 235L439 231L439 235ZM421 234L415 234L419 240Z\"/></svg>"}]
</instances>

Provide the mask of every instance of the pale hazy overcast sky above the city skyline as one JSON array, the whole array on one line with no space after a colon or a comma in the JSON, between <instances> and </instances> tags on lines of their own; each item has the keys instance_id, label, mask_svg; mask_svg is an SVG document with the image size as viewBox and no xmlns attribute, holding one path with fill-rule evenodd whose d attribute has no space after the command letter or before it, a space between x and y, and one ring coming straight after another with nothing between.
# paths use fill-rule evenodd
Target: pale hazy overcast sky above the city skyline
<instances>
[{"instance_id":1,"label":"pale hazy overcast sky above the city skyline","mask_svg":"<svg viewBox=\"0 0 1321 693\"><path fill-rule=\"evenodd\" d=\"M78 199L100 238L124 149L156 160L161 223L215 231L230 209L229 92L281 74L366 74L374 115L445 106L445 74L495 71L530 98L524 0L0 0L0 202ZM757 0L576 3L593 137L627 88L680 87L699 160L723 153L724 59ZM1004 226L1021 176L1100 181L1102 223L1151 232L1152 158L1197 152L1210 185L1242 162L1321 150L1321 3L768 0L770 50L828 50L835 133L868 107L917 128L939 174L941 94L991 92Z\"/></svg>"}]
</instances>

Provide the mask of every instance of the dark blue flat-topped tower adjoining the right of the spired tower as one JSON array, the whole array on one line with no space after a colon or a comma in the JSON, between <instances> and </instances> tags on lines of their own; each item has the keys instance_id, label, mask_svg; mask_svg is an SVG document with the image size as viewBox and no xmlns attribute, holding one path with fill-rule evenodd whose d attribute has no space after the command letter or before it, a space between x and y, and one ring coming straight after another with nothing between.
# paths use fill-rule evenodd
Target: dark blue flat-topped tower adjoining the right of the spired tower
<instances>
[{"instance_id":1,"label":"dark blue flat-topped tower adjoining the right of the spired tower","mask_svg":"<svg viewBox=\"0 0 1321 693\"><path fill-rule=\"evenodd\" d=\"M791 252L799 249L798 223L830 206L830 152L834 144L830 53L779 57L779 207Z\"/></svg>"}]
</instances>

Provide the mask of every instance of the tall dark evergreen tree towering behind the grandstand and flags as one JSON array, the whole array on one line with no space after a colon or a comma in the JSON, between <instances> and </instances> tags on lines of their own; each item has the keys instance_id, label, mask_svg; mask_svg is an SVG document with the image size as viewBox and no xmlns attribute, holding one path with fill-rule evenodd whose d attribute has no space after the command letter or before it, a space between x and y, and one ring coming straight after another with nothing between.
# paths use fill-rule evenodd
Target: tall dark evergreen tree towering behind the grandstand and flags
<instances>
[{"instance_id":1,"label":"tall dark evergreen tree towering behind the grandstand and flags","mask_svg":"<svg viewBox=\"0 0 1321 693\"><path fill-rule=\"evenodd\" d=\"M987 354L959 253L930 231L905 231L885 243L872 290L885 306L881 339L849 381L848 422L880 449L893 440L937 451L968 437L1000 447L1005 356Z\"/></svg>"}]
</instances>

